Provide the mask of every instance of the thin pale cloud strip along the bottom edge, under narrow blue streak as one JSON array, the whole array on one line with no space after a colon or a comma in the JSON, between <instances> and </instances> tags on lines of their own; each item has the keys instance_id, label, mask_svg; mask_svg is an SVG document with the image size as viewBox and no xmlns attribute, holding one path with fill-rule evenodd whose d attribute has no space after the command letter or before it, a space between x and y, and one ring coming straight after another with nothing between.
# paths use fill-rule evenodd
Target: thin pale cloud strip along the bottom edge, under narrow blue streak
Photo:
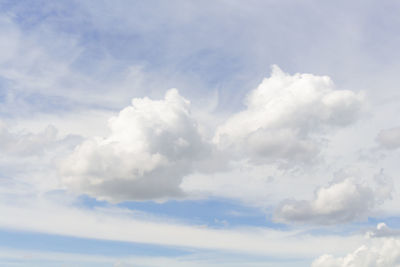
<instances>
[{"instance_id":1,"label":"thin pale cloud strip along the bottom edge, under narrow blue streak","mask_svg":"<svg viewBox=\"0 0 400 267\"><path fill-rule=\"evenodd\" d=\"M105 256L97 254L77 254L53 251L15 250L0 247L0 265L26 266L95 266L95 267L276 267L269 259L248 259L240 256L220 255L218 253L199 253L185 256ZM12 262L12 263L11 263ZM299 267L298 262L285 267Z\"/></svg>"}]
</instances>

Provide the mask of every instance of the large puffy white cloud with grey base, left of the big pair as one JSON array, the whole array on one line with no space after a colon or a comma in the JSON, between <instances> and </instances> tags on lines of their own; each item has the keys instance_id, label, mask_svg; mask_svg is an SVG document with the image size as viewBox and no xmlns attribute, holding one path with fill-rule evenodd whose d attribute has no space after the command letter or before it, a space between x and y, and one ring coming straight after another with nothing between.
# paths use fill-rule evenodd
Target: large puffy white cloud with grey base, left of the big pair
<instances>
[{"instance_id":1,"label":"large puffy white cloud with grey base, left of the big pair","mask_svg":"<svg viewBox=\"0 0 400 267\"><path fill-rule=\"evenodd\" d=\"M179 197L182 176L207 145L176 89L133 99L109 120L111 133L79 145L62 165L65 185L110 201Z\"/></svg>"}]
</instances>

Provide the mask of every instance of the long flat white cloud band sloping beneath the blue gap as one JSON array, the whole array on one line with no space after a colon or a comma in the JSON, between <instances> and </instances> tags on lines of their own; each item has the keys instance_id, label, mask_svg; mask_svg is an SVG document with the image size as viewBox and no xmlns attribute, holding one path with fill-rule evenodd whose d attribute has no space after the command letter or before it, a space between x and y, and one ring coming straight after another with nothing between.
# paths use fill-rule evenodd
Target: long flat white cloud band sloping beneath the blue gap
<instances>
[{"instance_id":1,"label":"long flat white cloud band sloping beneath the blue gap","mask_svg":"<svg viewBox=\"0 0 400 267\"><path fill-rule=\"evenodd\" d=\"M137 242L212 252L233 252L285 258L314 258L322 253L345 253L359 246L362 235L312 236L298 230L267 227L217 229L204 225L145 218L115 206L94 209L71 205L61 198L1 197L0 227L90 239ZM74 223L71 223L73 218ZM163 219L162 219L163 218ZM321 247L320 244L324 246ZM337 248L338 243L343 246ZM246 245L243 245L246 244Z\"/></svg>"}]
</instances>

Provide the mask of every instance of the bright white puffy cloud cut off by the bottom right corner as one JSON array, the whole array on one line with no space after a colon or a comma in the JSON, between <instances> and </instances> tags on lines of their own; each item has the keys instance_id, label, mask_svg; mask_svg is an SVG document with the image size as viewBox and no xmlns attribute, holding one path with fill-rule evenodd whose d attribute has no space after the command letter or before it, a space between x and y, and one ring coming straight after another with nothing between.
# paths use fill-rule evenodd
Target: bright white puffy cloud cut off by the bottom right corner
<instances>
[{"instance_id":1,"label":"bright white puffy cloud cut off by the bottom right corner","mask_svg":"<svg viewBox=\"0 0 400 267\"><path fill-rule=\"evenodd\" d=\"M345 257L325 254L317 258L312 267L399 267L400 240L384 238L371 245L363 245Z\"/></svg>"}]
</instances>

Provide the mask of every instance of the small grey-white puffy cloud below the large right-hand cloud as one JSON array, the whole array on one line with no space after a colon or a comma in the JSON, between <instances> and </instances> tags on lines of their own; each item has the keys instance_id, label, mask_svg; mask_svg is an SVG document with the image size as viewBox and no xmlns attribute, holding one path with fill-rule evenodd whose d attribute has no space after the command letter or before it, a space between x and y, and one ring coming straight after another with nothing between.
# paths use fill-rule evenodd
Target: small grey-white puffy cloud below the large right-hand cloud
<instances>
[{"instance_id":1,"label":"small grey-white puffy cloud below the large right-hand cloud","mask_svg":"<svg viewBox=\"0 0 400 267\"><path fill-rule=\"evenodd\" d=\"M376 179L378 180L378 179ZM391 184L378 180L376 189L345 179L319 188L311 201L285 200L275 210L280 222L336 224L364 219L391 197ZM390 188L390 189L389 189Z\"/></svg>"}]
</instances>

